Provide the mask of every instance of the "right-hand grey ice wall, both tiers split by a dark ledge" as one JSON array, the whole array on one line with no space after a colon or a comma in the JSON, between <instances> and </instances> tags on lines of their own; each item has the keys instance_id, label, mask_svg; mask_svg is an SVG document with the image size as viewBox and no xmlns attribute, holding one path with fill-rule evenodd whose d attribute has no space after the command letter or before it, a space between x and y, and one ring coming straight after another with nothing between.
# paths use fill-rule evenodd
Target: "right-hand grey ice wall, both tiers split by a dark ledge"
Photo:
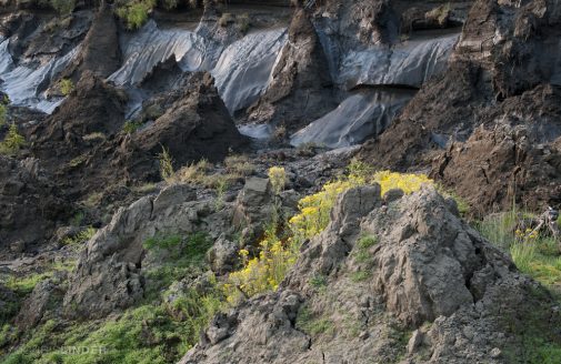
<instances>
[{"instance_id":1,"label":"right-hand grey ice wall, both tiers split by a dark ledge","mask_svg":"<svg viewBox=\"0 0 561 364\"><path fill-rule=\"evenodd\" d=\"M290 143L313 142L330 148L357 144L381 133L414 95L404 88L420 88L447 67L458 34L414 40L393 47L379 46L341 54L335 80L353 91L327 115L291 135ZM332 42L328 47L338 49ZM399 91L399 89L402 89Z\"/></svg>"}]
</instances>

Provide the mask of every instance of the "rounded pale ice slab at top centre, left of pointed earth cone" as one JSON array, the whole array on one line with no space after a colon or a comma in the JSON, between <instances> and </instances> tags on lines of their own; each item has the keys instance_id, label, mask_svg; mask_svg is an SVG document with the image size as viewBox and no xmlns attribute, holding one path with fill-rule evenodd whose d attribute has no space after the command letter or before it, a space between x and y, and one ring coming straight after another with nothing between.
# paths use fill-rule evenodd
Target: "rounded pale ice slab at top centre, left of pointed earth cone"
<instances>
[{"instance_id":1,"label":"rounded pale ice slab at top centre, left of pointed earth cone","mask_svg":"<svg viewBox=\"0 0 561 364\"><path fill-rule=\"evenodd\" d=\"M256 31L222 52L211 72L230 113L251 105L271 82L287 38L285 29Z\"/></svg>"}]
</instances>

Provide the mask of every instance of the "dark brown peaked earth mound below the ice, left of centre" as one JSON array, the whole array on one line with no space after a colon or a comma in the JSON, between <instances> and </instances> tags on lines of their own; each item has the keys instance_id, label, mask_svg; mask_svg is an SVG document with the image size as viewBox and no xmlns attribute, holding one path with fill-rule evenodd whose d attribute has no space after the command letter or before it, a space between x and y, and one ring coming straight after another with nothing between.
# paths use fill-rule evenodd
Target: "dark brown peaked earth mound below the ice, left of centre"
<instances>
[{"instance_id":1,"label":"dark brown peaked earth mound below the ice, left of centre","mask_svg":"<svg viewBox=\"0 0 561 364\"><path fill-rule=\"evenodd\" d=\"M162 148L178 168L201 159L222 161L247 145L209 73L193 75L188 87L163 100L171 105L153 123L126 138L116 155L117 165L134 179L159 178L157 155Z\"/></svg>"}]
</instances>

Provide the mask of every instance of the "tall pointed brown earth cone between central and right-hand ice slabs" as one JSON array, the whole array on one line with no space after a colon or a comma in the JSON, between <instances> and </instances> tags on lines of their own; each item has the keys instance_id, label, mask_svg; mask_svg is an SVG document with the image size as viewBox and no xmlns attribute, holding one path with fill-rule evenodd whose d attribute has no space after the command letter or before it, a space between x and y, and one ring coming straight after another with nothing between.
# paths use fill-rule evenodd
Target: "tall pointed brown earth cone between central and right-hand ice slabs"
<instances>
[{"instance_id":1,"label":"tall pointed brown earth cone between central and right-hand ice slabs","mask_svg":"<svg viewBox=\"0 0 561 364\"><path fill-rule=\"evenodd\" d=\"M282 124L293 131L334 109L329 65L313 24L298 10L272 71L272 81L256 105L251 122Z\"/></svg>"}]
</instances>

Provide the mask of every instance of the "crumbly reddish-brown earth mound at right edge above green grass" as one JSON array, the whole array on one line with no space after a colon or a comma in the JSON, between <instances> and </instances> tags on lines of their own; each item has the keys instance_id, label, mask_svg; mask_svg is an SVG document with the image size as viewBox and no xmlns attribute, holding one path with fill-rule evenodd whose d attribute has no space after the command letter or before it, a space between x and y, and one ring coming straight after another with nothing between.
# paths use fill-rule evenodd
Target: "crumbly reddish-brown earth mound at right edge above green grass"
<instances>
[{"instance_id":1,"label":"crumbly reddish-brown earth mound at right edge above green grass","mask_svg":"<svg viewBox=\"0 0 561 364\"><path fill-rule=\"evenodd\" d=\"M481 120L465 142L433 161L433 176L481 215L513 200L541 210L560 205L561 89L540 85L489 108Z\"/></svg>"}]
</instances>

